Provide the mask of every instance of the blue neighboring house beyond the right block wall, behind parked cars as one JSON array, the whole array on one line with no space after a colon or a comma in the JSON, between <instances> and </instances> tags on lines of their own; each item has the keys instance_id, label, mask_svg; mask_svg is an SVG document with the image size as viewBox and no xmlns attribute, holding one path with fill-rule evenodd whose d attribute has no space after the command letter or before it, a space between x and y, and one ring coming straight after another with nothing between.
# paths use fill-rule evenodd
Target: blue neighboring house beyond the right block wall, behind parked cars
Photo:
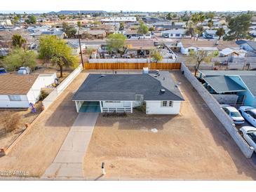
<instances>
[{"instance_id":1,"label":"blue neighboring house beyond the right block wall, behind parked cars","mask_svg":"<svg viewBox=\"0 0 256 192\"><path fill-rule=\"evenodd\" d=\"M199 71L199 78L212 95L237 95L236 104L256 108L256 71Z\"/></svg>"}]
</instances>

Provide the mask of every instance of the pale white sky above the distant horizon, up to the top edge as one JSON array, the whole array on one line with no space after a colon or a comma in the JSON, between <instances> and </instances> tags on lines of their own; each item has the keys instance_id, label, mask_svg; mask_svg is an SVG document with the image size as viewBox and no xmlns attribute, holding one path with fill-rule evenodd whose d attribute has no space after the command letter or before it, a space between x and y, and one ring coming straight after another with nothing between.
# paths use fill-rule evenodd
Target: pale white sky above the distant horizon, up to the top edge
<instances>
[{"instance_id":1,"label":"pale white sky above the distant horizon, up to the top edge","mask_svg":"<svg viewBox=\"0 0 256 192\"><path fill-rule=\"evenodd\" d=\"M256 11L255 0L0 0L0 12L26 11Z\"/></svg>"}]
</instances>

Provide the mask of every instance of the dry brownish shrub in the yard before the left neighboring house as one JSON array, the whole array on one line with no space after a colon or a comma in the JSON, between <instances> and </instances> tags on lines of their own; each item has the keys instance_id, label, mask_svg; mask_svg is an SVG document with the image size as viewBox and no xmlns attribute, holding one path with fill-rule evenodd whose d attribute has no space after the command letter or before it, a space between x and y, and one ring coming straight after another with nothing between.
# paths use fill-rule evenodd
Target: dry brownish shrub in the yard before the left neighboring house
<instances>
[{"instance_id":1,"label":"dry brownish shrub in the yard before the left neighboring house","mask_svg":"<svg viewBox=\"0 0 256 192\"><path fill-rule=\"evenodd\" d=\"M20 123L20 115L15 113L7 113L4 116L4 132L12 132L13 130L18 128Z\"/></svg>"}]
</instances>

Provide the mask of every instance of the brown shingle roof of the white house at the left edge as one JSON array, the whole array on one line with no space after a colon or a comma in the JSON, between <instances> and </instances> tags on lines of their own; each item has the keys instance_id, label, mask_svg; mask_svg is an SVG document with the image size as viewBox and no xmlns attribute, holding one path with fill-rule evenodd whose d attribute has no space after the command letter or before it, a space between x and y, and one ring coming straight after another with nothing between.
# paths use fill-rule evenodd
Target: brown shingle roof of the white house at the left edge
<instances>
[{"instance_id":1,"label":"brown shingle roof of the white house at the left edge","mask_svg":"<svg viewBox=\"0 0 256 192\"><path fill-rule=\"evenodd\" d=\"M38 76L38 74L2 74L0 75L0 95L27 95Z\"/></svg>"}]
</instances>

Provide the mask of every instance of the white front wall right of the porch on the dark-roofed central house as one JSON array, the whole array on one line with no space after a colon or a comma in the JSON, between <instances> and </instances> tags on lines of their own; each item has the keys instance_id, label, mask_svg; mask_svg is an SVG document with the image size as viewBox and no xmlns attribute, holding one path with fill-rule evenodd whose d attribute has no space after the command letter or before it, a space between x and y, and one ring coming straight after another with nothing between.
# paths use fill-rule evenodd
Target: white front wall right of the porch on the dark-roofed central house
<instances>
[{"instance_id":1,"label":"white front wall right of the porch on the dark-roofed central house","mask_svg":"<svg viewBox=\"0 0 256 192\"><path fill-rule=\"evenodd\" d=\"M161 107L161 101L147 101L146 114L180 114L180 101L173 101L173 107Z\"/></svg>"}]
</instances>

